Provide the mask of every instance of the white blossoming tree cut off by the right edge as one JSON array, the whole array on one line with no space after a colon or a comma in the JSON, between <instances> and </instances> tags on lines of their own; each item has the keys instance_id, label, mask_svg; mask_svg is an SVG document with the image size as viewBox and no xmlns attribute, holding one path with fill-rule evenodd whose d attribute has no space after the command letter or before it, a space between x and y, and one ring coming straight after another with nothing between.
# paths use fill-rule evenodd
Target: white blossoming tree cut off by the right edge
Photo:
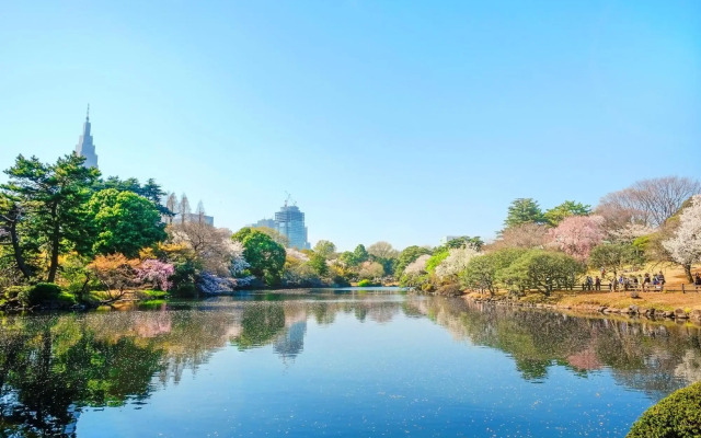
<instances>
[{"instance_id":1,"label":"white blossoming tree cut off by the right edge","mask_svg":"<svg viewBox=\"0 0 701 438\"><path fill-rule=\"evenodd\" d=\"M677 232L662 244L671 258L683 266L691 281L691 264L701 262L701 195L691 198L691 205L679 216Z\"/></svg>"}]
</instances>

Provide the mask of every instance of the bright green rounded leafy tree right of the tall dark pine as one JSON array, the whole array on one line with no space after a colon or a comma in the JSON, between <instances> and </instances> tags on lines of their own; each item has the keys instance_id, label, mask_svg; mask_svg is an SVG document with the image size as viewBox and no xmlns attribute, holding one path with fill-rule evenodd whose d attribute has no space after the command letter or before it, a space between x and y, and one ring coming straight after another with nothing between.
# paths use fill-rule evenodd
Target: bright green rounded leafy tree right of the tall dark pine
<instances>
[{"instance_id":1,"label":"bright green rounded leafy tree right of the tall dark pine","mask_svg":"<svg viewBox=\"0 0 701 438\"><path fill-rule=\"evenodd\" d=\"M133 192L107 188L92 195L87 205L95 235L96 254L122 253L129 258L139 250L165 240L165 226L156 205Z\"/></svg>"}]
</instances>

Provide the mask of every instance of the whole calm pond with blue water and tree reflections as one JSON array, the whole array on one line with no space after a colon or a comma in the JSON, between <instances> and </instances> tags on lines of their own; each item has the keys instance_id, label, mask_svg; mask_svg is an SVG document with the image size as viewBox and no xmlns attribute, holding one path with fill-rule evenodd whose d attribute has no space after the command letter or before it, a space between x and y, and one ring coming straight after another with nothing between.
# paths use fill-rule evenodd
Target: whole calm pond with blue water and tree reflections
<instances>
[{"instance_id":1,"label":"whole calm pond with blue water and tree reflections","mask_svg":"<svg viewBox=\"0 0 701 438\"><path fill-rule=\"evenodd\" d=\"M699 327L395 290L3 315L2 436L624 436Z\"/></svg>"}]
</instances>

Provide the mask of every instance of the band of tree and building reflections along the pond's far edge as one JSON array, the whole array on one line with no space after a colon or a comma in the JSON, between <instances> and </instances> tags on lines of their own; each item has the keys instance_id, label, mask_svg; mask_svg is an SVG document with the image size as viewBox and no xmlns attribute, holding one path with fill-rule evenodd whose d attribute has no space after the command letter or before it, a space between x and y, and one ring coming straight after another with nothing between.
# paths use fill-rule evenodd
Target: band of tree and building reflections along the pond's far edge
<instances>
[{"instance_id":1,"label":"band of tree and building reflections along the pond's far edge","mask_svg":"<svg viewBox=\"0 0 701 438\"><path fill-rule=\"evenodd\" d=\"M272 345L283 360L294 359L303 351L309 323L333 324L340 314L378 324L428 318L459 342L508 354L535 382L558 366L582 377L608 368L619 384L659 399L701 380L701 335L691 325L435 297L221 298L179 310L4 316L0 429L3 436L71 436L83 407L138 405L229 345Z\"/></svg>"}]
</instances>

